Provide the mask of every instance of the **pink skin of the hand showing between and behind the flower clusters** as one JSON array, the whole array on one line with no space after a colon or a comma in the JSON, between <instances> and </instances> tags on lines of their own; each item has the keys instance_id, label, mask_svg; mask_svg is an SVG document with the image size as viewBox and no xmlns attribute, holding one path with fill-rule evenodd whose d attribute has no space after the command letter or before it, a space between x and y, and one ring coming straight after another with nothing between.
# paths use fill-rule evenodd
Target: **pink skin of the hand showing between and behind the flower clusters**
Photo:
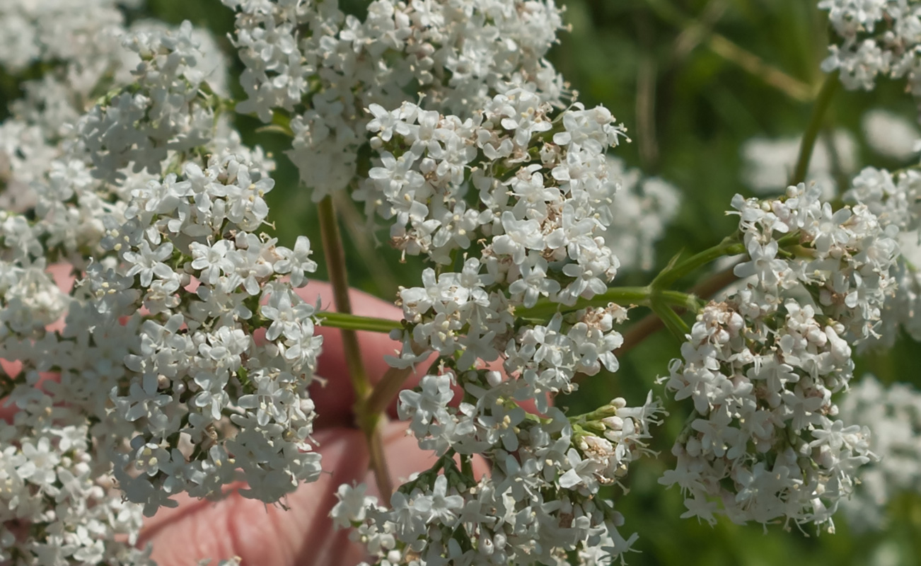
<instances>
[{"instance_id":1,"label":"pink skin of the hand showing between and behind the flower clusters","mask_svg":"<svg viewBox=\"0 0 921 566\"><path fill-rule=\"evenodd\" d=\"M50 268L62 289L70 289L73 277L66 265ZM320 297L323 308L332 308L332 288L327 283L312 282L298 294L311 304ZM402 312L391 303L381 301L361 291L351 291L356 314L399 320ZM52 324L57 328L58 323ZM314 437L322 454L322 466L328 473L310 484L302 485L280 505L265 505L248 500L228 487L227 497L218 502L177 498L177 508L164 508L146 520L139 544L153 543L153 558L161 566L186 566L197 560L216 560L238 556L244 564L261 566L300 566L355 564L365 558L360 545L349 541L347 531L337 531L329 519L336 503L335 490L343 483L367 482L370 494L377 495L373 475L368 472L368 454L362 433L353 426L352 392L345 365L342 336L338 329L317 327L323 336L323 353L318 375L326 378L325 387L316 383L310 395L319 407ZM383 356L391 355L399 344L387 335L358 333L363 360L372 382L387 371ZM16 374L20 364L0 360L8 374ZM406 386L418 383L427 364L420 364L418 373L407 380ZM496 365L495 369L501 369ZM47 376L52 378L52 375ZM2 404L0 404L2 405ZM395 414L396 401L388 412ZM533 406L526 407L533 410ZM8 419L10 407L0 408L0 419ZM391 478L399 482L411 473L422 471L435 462L435 457L422 451L412 436L406 435L401 422L387 423L384 430L384 450ZM474 459L477 476L488 470L482 458ZM397 484L399 485L399 484Z\"/></svg>"}]
</instances>

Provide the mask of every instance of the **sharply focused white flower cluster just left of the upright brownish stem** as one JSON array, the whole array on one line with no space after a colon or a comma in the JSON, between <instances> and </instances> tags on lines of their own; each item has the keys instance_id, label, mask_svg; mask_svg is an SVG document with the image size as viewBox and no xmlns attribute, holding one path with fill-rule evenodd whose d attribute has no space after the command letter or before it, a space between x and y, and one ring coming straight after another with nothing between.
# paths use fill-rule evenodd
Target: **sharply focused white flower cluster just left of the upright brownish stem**
<instances>
[{"instance_id":1,"label":"sharply focused white flower cluster just left of the upright brownish stem","mask_svg":"<svg viewBox=\"0 0 921 566\"><path fill-rule=\"evenodd\" d=\"M146 513L182 491L215 496L239 479L235 468L250 484L244 495L267 502L320 473L307 387L321 338L313 307L281 280L304 282L316 265L305 238L296 252L254 233L273 182L247 165L216 154L204 169L187 162L181 177L136 189L121 227L103 242L119 261L91 265L83 281L99 324L138 324L120 368L127 373L104 384L115 410L97 434L130 441L113 443L108 455L128 499L145 503ZM136 283L134 296L112 292ZM142 305L149 315L137 313ZM261 327L264 345L253 336ZM181 444L210 448L181 454ZM157 466L146 464L149 450Z\"/></svg>"}]
</instances>

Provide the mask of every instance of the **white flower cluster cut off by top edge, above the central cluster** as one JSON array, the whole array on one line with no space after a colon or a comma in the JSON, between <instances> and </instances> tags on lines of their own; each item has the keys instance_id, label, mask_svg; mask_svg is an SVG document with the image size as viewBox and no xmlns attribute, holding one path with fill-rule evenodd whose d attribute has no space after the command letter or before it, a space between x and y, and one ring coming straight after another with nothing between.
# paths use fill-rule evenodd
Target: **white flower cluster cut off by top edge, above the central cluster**
<instances>
[{"instance_id":1,"label":"white flower cluster cut off by top edge, above the central cluster","mask_svg":"<svg viewBox=\"0 0 921 566\"><path fill-rule=\"evenodd\" d=\"M288 157L315 200L355 178L372 104L422 93L427 107L469 116L508 83L554 102L563 92L543 58L562 27L553 0L376 0L364 21L335 2L223 1L238 11L246 65L237 111L263 122L291 112Z\"/></svg>"}]
</instances>

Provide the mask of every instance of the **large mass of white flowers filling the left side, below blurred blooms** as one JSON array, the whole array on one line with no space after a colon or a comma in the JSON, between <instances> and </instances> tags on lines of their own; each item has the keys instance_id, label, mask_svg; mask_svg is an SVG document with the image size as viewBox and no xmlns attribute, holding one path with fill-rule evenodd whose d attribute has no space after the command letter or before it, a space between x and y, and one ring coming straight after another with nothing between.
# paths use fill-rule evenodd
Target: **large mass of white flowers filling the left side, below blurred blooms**
<instances>
[{"instance_id":1,"label":"large mass of white flowers filling the left side, below blurred blooms","mask_svg":"<svg viewBox=\"0 0 921 566\"><path fill-rule=\"evenodd\" d=\"M271 162L217 131L190 26L125 43L138 84L32 182L37 219L0 212L0 359L18 364L0 373L17 408L0 432L0 561L146 563L142 510L240 480L275 502L321 471L321 337L293 290L316 267L309 242L258 233ZM72 291L46 273L55 256Z\"/></svg>"}]
</instances>

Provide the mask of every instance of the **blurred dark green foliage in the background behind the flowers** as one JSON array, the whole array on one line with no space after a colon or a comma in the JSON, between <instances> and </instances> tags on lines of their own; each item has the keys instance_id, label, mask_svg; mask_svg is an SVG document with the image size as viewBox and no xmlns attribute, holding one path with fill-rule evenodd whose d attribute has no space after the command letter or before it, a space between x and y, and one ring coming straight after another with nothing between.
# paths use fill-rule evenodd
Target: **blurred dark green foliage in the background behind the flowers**
<instances>
[{"instance_id":1,"label":"blurred dark green foliage in the background behind the flowers","mask_svg":"<svg viewBox=\"0 0 921 566\"><path fill-rule=\"evenodd\" d=\"M341 4L346 11L360 14L365 3L344 0ZM554 48L554 65L587 106L603 104L628 126L633 142L618 147L619 156L682 189L680 216L659 242L659 268L674 254L719 242L735 227L736 220L725 216L730 198L747 194L741 183L743 142L752 136L799 136L809 119L810 98L822 80L819 65L829 41L816 0L567 0L562 4L571 30L561 34ZM148 0L129 18L192 20L211 29L227 53L233 53L227 40L233 14L218 0ZM239 74L239 62L235 65L234 73ZM5 84L4 90L8 89ZM859 139L860 117L870 108L886 108L909 118L917 115L903 84L883 82L871 93L840 90L827 129L845 127ZM277 159L276 185L269 195L276 235L290 245L297 235L306 234L319 249L309 192L298 186L297 171L283 155L287 140L257 132L261 124L251 118L240 117L238 125L248 143L262 145ZM880 161L867 147L861 147L860 157L865 164L894 166ZM344 203L340 208L348 213L344 234L352 284L385 299L393 298L398 284L415 285L421 265L409 260L400 265L398 254L389 247L375 247L360 211ZM648 273L633 273L619 275L618 281L645 284L650 278ZM682 283L690 286L694 281ZM639 311L636 317L645 314ZM557 403L582 412L619 395L632 403L642 402L650 387L661 395L655 379L668 372L668 361L676 355L678 344L670 336L651 336L623 357L616 375L589 378L580 391ZM903 337L892 352L858 360L857 375L872 371L884 383L919 385L919 364L921 347ZM817 536L813 529L803 532L795 525L789 532L784 525L772 525L765 534L760 525L731 525L724 520L710 527L680 519L684 511L680 493L662 489L657 480L672 466L670 443L687 407L667 403L667 408L671 418L654 445L659 460L649 459L631 469L625 484L628 496L619 489L610 493L624 513L622 532L640 535L635 548L641 553L631 554L630 564L921 563L917 496L892 502L891 527L881 533L851 533L843 520L837 524L837 534Z\"/></svg>"}]
</instances>

